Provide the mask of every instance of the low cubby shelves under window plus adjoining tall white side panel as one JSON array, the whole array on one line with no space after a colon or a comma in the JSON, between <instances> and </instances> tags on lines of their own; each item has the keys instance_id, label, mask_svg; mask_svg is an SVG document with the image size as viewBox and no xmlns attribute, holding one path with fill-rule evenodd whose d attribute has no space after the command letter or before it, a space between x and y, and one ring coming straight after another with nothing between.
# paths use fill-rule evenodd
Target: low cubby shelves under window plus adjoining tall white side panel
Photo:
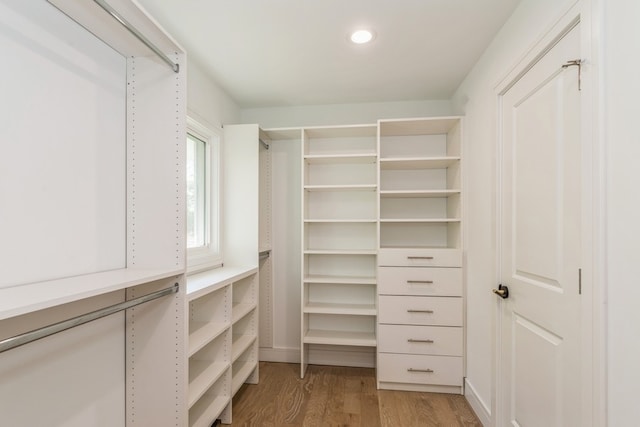
<instances>
[{"instance_id":1,"label":"low cubby shelves under window plus adjoining tall white side panel","mask_svg":"<svg viewBox=\"0 0 640 427\"><path fill-rule=\"evenodd\" d=\"M224 266L187 278L190 426L230 424L233 396L258 382L258 253L270 234L270 218L260 215L259 176L268 162L258 135L257 125L224 128Z\"/></svg>"}]
</instances>

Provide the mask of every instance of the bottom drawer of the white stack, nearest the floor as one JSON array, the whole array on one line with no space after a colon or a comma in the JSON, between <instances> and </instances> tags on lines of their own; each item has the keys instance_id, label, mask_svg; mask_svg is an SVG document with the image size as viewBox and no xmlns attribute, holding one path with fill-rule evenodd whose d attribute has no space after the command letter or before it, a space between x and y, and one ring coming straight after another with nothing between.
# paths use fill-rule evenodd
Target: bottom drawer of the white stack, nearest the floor
<instances>
[{"instance_id":1,"label":"bottom drawer of the white stack, nearest the floor","mask_svg":"<svg viewBox=\"0 0 640 427\"><path fill-rule=\"evenodd\" d=\"M378 354L378 381L462 386L462 357Z\"/></svg>"}]
</instances>

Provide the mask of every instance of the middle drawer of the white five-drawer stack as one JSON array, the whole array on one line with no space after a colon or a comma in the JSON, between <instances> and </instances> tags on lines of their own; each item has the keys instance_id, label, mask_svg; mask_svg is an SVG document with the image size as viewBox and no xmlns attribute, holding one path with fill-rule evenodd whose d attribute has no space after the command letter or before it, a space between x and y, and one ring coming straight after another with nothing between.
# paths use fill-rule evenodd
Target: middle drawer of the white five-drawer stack
<instances>
[{"instance_id":1,"label":"middle drawer of the white five-drawer stack","mask_svg":"<svg viewBox=\"0 0 640 427\"><path fill-rule=\"evenodd\" d=\"M381 295L378 322L462 326L462 298Z\"/></svg>"}]
</instances>

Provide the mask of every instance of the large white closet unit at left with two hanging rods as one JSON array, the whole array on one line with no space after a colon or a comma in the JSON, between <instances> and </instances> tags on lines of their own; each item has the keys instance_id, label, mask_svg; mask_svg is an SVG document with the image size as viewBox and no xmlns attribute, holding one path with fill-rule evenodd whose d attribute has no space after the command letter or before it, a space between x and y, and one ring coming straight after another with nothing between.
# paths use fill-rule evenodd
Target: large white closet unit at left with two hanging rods
<instances>
[{"instance_id":1,"label":"large white closet unit at left with two hanging rods","mask_svg":"<svg viewBox=\"0 0 640 427\"><path fill-rule=\"evenodd\" d=\"M1 6L12 17L0 22L2 33L18 30L1 40L3 51L11 46L5 78L22 91L15 99L3 94L11 113L2 113L23 126L22 140L2 139L28 144L38 153L31 161L52 167L34 163L26 175L2 165L7 182L21 183L3 200L24 211L7 223L21 236L2 231L3 259L7 248L14 258L11 281L0 284L0 329L37 329L175 283L180 290L0 355L3 366L24 361L0 386L7 425L92 425L92 412L129 427L182 426L187 418L185 228L176 208L184 206L186 55L135 1L112 3L173 66L94 2ZM34 122L40 126L24 127ZM24 234L34 231L41 244ZM17 250L24 241L31 251ZM69 382L75 394L60 393ZM34 399L38 411L20 410ZM86 401L98 410L87 411L79 403Z\"/></svg>"}]
</instances>

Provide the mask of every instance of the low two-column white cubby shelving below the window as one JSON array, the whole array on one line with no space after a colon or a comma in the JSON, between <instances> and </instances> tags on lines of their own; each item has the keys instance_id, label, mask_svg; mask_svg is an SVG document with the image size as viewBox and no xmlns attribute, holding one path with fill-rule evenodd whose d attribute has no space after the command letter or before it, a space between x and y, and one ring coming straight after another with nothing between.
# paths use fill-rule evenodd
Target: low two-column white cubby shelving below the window
<instances>
[{"instance_id":1,"label":"low two-column white cubby shelving below the window","mask_svg":"<svg viewBox=\"0 0 640 427\"><path fill-rule=\"evenodd\" d=\"M190 275L189 426L232 421L231 401L257 382L257 268L227 267Z\"/></svg>"}]
</instances>

